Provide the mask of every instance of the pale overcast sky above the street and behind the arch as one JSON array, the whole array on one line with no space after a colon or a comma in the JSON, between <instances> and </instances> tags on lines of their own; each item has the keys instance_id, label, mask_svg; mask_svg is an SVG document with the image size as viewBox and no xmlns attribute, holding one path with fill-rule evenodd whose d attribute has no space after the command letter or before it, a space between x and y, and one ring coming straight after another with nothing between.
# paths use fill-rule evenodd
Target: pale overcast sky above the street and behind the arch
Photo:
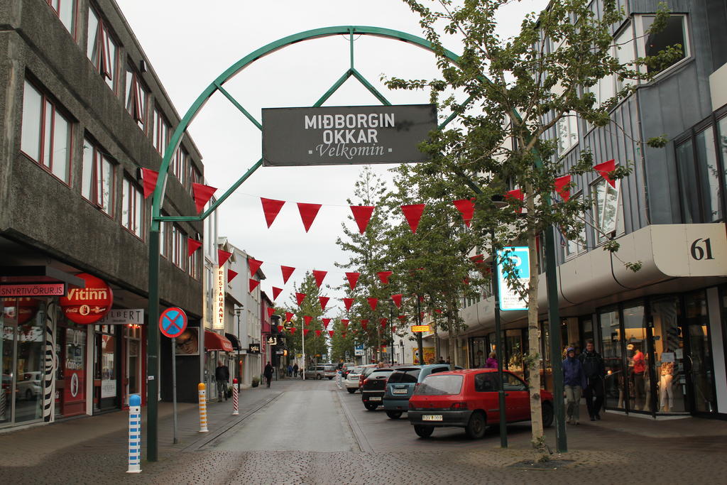
<instances>
[{"instance_id":1,"label":"pale overcast sky above the street and behind the arch","mask_svg":"<svg viewBox=\"0 0 727 485\"><path fill-rule=\"evenodd\" d=\"M180 116L225 69L265 44L293 33L334 25L370 25L422 36L419 17L399 0L116 0L139 39L154 71ZM516 33L526 12L542 9L547 0L513 2L503 12L500 32ZM428 102L427 92L388 91L383 75L432 79L437 75L430 52L411 44L361 36L355 41L355 67L393 104ZM457 39L446 43L459 53ZM225 89L256 119L261 108L310 106L348 69L348 39L343 36L294 44L252 63L225 84ZM373 105L377 100L353 78L326 106ZM190 135L204 157L205 177L217 195L261 157L260 130L225 97L214 95L190 126ZM285 140L281 140L284 143ZM390 165L374 165L385 179ZM220 236L264 261L262 289L285 289L276 303L289 300L293 283L305 270L328 270L324 284L344 281L334 262L347 260L335 241L350 215L346 199L360 166L260 168L219 209ZM286 201L270 229L260 197ZM324 204L308 233L297 202ZM353 221L348 223L355 227ZM297 268L286 285L280 265ZM385 270L386 268L382 268ZM326 290L333 298L342 294ZM336 303L337 305L334 305ZM335 316L340 301L329 302Z\"/></svg>"}]
</instances>

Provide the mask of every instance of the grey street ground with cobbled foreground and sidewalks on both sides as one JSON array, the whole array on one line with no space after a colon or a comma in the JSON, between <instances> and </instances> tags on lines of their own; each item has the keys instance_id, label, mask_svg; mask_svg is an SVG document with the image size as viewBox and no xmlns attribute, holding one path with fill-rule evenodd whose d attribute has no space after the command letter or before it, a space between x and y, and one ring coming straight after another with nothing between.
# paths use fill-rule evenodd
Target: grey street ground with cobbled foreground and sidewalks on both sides
<instances>
[{"instance_id":1,"label":"grey street ground with cobbled foreground and sidewalks on both sides","mask_svg":"<svg viewBox=\"0 0 727 485\"><path fill-rule=\"evenodd\" d=\"M321 401L326 393L330 399ZM124 473L124 423L97 436L87 429L91 422L97 430L111 425L114 415L121 421L125 413L0 435L0 482L685 484L723 483L727 476L727 423L714 420L654 422L609 413L601 422L569 428L571 451L553 458L571 463L555 470L523 470L508 467L531 459L527 423L508 427L510 448L500 449L497 430L479 441L468 440L456 428L417 438L406 419L367 412L358 393L337 390L332 382L278 382L271 390L249 391L243 400L243 417L236 420L229 419L227 404L210 404L211 433L201 438L196 409L182 411L182 444L162 445L160 461L143 462L139 475ZM309 412L312 406L316 412ZM291 424L297 420L308 420L308 428ZM163 436L169 421L160 420L160 444L169 438L168 432ZM341 422L348 427L341 428ZM70 444L61 446L63 438ZM330 442L336 439L348 451L297 451L332 449ZM547 441L553 444L553 430ZM252 451L240 451L242 446Z\"/></svg>"}]
</instances>

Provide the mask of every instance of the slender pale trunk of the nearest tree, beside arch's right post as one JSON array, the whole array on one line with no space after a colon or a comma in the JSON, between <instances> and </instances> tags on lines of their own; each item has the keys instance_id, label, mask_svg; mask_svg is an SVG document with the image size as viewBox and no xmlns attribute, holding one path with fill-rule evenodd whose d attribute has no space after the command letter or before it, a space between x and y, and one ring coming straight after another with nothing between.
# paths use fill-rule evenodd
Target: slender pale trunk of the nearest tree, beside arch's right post
<instances>
[{"instance_id":1,"label":"slender pale trunk of the nearest tree, beside arch's right post","mask_svg":"<svg viewBox=\"0 0 727 485\"><path fill-rule=\"evenodd\" d=\"M535 213L534 194L531 186L526 184L528 218ZM540 401L540 339L538 326L538 251L537 233L534 221L528 224L528 254L530 259L530 284L528 286L528 355L525 366L528 370L530 391L530 421L532 428L531 444L535 449L536 461L547 458L545 454L545 436L543 436L542 404Z\"/></svg>"}]
</instances>

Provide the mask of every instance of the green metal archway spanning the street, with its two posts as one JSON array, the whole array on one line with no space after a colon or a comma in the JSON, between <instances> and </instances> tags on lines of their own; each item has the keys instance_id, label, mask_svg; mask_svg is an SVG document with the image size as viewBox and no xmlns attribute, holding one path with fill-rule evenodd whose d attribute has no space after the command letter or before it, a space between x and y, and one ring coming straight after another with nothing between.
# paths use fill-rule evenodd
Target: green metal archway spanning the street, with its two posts
<instances>
[{"instance_id":1,"label":"green metal archway spanning the street, with its two posts","mask_svg":"<svg viewBox=\"0 0 727 485\"><path fill-rule=\"evenodd\" d=\"M159 318L159 235L160 235L160 225L163 222L172 222L172 221L201 221L206 219L206 217L209 217L212 212L214 212L217 207L222 204L236 189L244 183L245 180L247 180L250 175L252 175L257 169L262 167L262 159L258 160L255 164L250 167L247 172L245 172L242 177L240 177L236 183L233 183L233 185L230 186L228 191L226 191L222 196L220 196L219 199L214 201L212 204L210 204L210 207L206 209L206 211L202 212L200 215L196 216L161 216L161 205L164 201L164 190L166 188L166 172L169 169L169 163L172 160L172 157L174 156L174 152L177 150L177 147L180 145L180 142L182 140L182 135L187 131L187 128L189 127L190 123L193 121L195 116L201 111L201 109L206 104L207 100L209 100L212 95L214 95L216 92L222 93L225 97L230 100L230 103L235 105L236 108L238 108L243 115L249 119L252 124L255 125L258 129L262 130L262 124L260 124L257 119L252 116L252 114L247 111L241 103L238 102L230 93L223 87L223 85L232 79L234 76L236 76L238 73L243 71L247 66L254 63L256 60L265 57L267 55L273 54L273 52L276 52L280 49L284 49L284 47L288 47L292 44L297 44L301 41L309 41L313 39L322 39L324 37L330 37L330 36L340 36L340 35L348 35L350 39L350 67L348 68L345 73L332 85L332 87L323 95L321 98L313 105L314 107L321 106L323 103L326 102L326 100L331 97L334 92L337 91L344 83L345 81L353 76L358 81L361 82L361 84L366 87L366 89L371 92L372 95L377 97L377 99L385 105L390 105L389 101L368 81L366 78L359 73L356 68L354 68L354 56L353 56L353 36L355 35L366 35L366 36L376 36L381 37L384 39L391 39L395 41L402 41L406 42L408 44L411 44L415 47L420 47L422 49L428 50L430 52L435 52L435 48L430 43L430 41L427 41L426 39L422 39L418 36L413 36L409 33L401 32L401 31L395 31L388 28L379 28L379 27L370 27L370 26L360 26L360 25L341 25L336 27L326 27L326 28L317 28L310 31L304 31L300 33L295 33L291 36L284 37L282 39L278 39L277 41L270 42L270 44L267 44L263 47L260 47L260 49L254 50L253 52L249 53L245 57L243 57L241 60L238 60L238 62L234 63L230 66L226 71L224 71L220 76L217 76L217 79L214 79L212 83L209 84L209 86L204 89L203 92L197 97L193 105L190 106L187 113L185 113L185 116L182 118L180 123L177 125L177 128L174 129L174 133L172 134L171 139L169 140L169 144L166 146L166 150L164 151L164 159L161 162L161 167L159 168L159 175L156 182L156 188L153 193L152 198L152 217L151 217L151 227L149 231L149 308L148 308L148 315L149 315L149 326L148 326L148 333L147 333L147 357L148 357L148 364L147 364L147 395L153 396L153 398L147 399L147 406L148 406L148 426L147 426L147 459L149 461L157 461L158 460L158 430L157 430L157 424L158 424L158 402L156 399L156 396L158 396L158 375L156 372L156 369L158 369L158 343L159 343L159 331L158 326L156 325L156 322ZM454 52L451 52L447 49L443 51L443 55L451 61L454 65L457 65L459 63L459 56L454 54ZM484 78L483 81L489 82L488 79ZM517 116L517 113L515 113ZM452 113L449 118L444 120L440 125L440 129L443 127L446 127L447 124L449 124L450 121L452 121L455 118L456 113ZM475 193L480 193L480 189L472 183L470 180L466 179L465 177L465 183L467 185L470 185L471 188L473 188L473 191ZM557 295L558 289L557 289L557 282L555 280L555 241L553 237L552 231L546 231L546 250L547 250L547 257L546 259L549 261L547 265L547 275L552 275L553 277L548 278L548 294L551 295ZM552 268L551 268L552 263ZM553 281L551 281L553 280ZM557 302L557 296L556 296L556 302ZM555 322L556 329L558 322L560 321L560 318L558 316L558 305L549 305L549 320L551 322L551 326L553 326L553 322ZM554 341L553 339L556 339L557 341ZM560 332L550 332L550 339L551 339L551 347L552 348L560 348ZM555 345L557 344L557 345ZM204 351L201 349L201 352ZM556 359L557 360L557 359ZM556 364L558 364L558 369L556 369ZM560 372L560 361L553 362L553 372ZM562 392L562 390L561 390ZM556 385L555 393L558 395L558 386ZM556 400L556 409L555 414L556 416L563 417L563 403L561 402L560 406L557 404ZM561 412L558 412L558 407L561 407ZM560 420L558 424L558 451L566 451L565 449L565 425L562 423L562 419ZM562 430L561 430L562 425ZM563 435L561 437L561 434ZM563 446L560 446L561 439L563 440Z\"/></svg>"}]
</instances>

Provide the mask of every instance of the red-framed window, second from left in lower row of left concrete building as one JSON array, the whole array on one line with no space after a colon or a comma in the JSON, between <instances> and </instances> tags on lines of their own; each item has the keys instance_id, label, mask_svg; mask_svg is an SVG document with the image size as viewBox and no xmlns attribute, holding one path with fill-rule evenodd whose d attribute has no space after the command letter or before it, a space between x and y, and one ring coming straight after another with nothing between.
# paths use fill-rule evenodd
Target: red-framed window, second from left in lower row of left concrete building
<instances>
[{"instance_id":1,"label":"red-framed window, second from left in lower row of left concrete building","mask_svg":"<svg viewBox=\"0 0 727 485\"><path fill-rule=\"evenodd\" d=\"M84 138L81 195L113 217L113 185L116 166L103 148Z\"/></svg>"}]
</instances>

